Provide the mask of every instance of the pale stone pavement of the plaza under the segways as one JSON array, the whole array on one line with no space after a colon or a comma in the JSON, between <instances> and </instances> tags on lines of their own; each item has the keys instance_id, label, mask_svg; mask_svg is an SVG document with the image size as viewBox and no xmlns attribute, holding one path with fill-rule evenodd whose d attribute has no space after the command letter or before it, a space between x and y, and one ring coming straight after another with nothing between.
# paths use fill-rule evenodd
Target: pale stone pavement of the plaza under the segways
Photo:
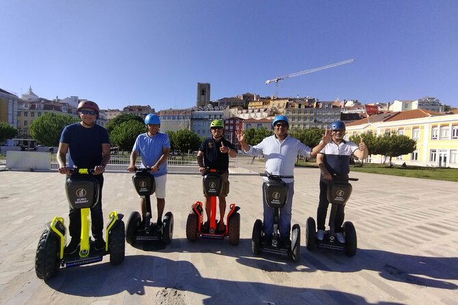
<instances>
[{"instance_id":1,"label":"pale stone pavement of the plaza under the segways","mask_svg":"<svg viewBox=\"0 0 458 305\"><path fill-rule=\"evenodd\" d=\"M201 176L169 174L166 211L175 217L169 246L127 244L122 265L105 256L44 282L34 270L36 246L45 222L62 216L68 223L64 176L0 172L0 304L458 304L458 183L351 176L359 178L346 205L358 238L351 258L305 248L305 222L316 218L317 169L295 170L300 263L251 252L253 224L262 218L262 177L229 178L227 202L241 207L240 243L231 246L227 239L186 239L190 206L203 199ZM114 209L125 222L139 210L127 172L105 174L105 221Z\"/></svg>"}]
</instances>

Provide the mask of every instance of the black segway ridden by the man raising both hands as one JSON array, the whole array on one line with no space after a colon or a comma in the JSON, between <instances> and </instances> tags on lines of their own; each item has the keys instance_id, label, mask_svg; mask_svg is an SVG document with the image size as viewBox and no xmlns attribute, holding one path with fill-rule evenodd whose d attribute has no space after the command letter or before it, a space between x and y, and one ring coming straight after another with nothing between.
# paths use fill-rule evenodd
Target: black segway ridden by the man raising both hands
<instances>
[{"instance_id":1,"label":"black segway ridden by the man raising both hands","mask_svg":"<svg viewBox=\"0 0 458 305\"><path fill-rule=\"evenodd\" d=\"M264 233L262 232L262 220L256 220L253 226L253 235L251 237L251 249L253 254L259 255L262 252L279 254L281 256L291 257L293 261L298 262L301 257L301 226L294 224L291 232L291 246L285 247L280 243L279 234L279 211L288 200L288 185L281 178L294 178L294 176L279 176L272 174L259 174L268 178L264 183L262 191L267 200L267 204L272 208L274 214L274 230L272 242L263 246L261 243Z\"/></svg>"}]
</instances>

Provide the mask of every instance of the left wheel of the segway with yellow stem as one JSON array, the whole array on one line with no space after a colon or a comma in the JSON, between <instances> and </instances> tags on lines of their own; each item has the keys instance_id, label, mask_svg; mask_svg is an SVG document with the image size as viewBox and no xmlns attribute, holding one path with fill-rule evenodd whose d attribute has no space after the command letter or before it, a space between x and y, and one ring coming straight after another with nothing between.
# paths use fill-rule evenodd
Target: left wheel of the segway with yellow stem
<instances>
[{"instance_id":1,"label":"left wheel of the segway with yellow stem","mask_svg":"<svg viewBox=\"0 0 458 305\"><path fill-rule=\"evenodd\" d=\"M35 272L38 278L48 280L58 273L60 267L58 245L58 238L49 230L44 230L36 248Z\"/></svg>"}]
</instances>

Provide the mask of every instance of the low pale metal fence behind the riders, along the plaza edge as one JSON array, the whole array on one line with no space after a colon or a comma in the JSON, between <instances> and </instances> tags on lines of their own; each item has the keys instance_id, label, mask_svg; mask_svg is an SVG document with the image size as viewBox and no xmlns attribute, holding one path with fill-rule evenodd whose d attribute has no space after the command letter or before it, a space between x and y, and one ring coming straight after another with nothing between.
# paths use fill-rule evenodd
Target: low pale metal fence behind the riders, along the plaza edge
<instances>
[{"instance_id":1,"label":"low pale metal fence behind the riders, along the plaza edge","mask_svg":"<svg viewBox=\"0 0 458 305\"><path fill-rule=\"evenodd\" d=\"M57 170L59 168L56 154L49 153L51 158L49 170ZM67 156L68 159L68 156ZM140 157L136 161L136 165L140 167ZM6 164L6 152L0 152L0 165ZM129 155L113 154L110 163L105 170L107 172L126 172L129 166ZM199 165L197 165L196 155L170 155L168 159L169 174L199 174ZM264 172L264 162L259 161L259 157L239 154L236 158L229 158L230 174L258 174Z\"/></svg>"}]
</instances>

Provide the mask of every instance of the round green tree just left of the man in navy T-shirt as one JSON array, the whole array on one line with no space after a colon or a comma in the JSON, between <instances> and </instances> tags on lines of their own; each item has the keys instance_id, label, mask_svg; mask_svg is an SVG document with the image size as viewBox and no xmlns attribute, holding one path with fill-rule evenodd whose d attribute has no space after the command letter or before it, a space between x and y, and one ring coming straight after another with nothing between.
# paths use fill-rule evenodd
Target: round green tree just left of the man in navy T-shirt
<instances>
[{"instance_id":1,"label":"round green tree just left of the man in navy T-shirt","mask_svg":"<svg viewBox=\"0 0 458 305\"><path fill-rule=\"evenodd\" d=\"M30 124L30 135L36 142L45 146L59 146L60 134L66 125L79 122L68 114L43 114Z\"/></svg>"}]
</instances>

